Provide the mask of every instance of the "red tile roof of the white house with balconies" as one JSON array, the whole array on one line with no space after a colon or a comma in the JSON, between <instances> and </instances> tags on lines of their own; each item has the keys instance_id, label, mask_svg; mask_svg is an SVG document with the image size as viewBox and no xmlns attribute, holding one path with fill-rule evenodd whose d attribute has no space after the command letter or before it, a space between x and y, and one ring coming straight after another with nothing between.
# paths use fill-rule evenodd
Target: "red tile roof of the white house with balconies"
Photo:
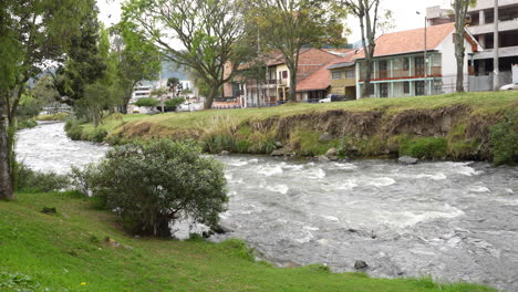
<instances>
[{"instance_id":1,"label":"red tile roof of the white house with balconies","mask_svg":"<svg viewBox=\"0 0 518 292\"><path fill-rule=\"evenodd\" d=\"M435 50L455 30L455 23L428 27L426 50ZM404 54L424 51L424 28L386 33L376 39L374 56ZM363 51L356 59L363 59Z\"/></svg>"}]
</instances>

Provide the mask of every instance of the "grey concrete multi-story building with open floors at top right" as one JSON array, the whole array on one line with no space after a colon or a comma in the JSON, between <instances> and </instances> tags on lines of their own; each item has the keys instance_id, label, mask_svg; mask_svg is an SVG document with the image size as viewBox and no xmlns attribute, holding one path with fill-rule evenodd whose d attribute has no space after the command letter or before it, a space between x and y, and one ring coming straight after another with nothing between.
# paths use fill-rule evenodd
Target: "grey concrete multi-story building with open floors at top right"
<instances>
[{"instance_id":1,"label":"grey concrete multi-story building with open floors at top right","mask_svg":"<svg viewBox=\"0 0 518 292\"><path fill-rule=\"evenodd\" d=\"M470 91L488 91L493 88L494 40L495 40L495 1L478 0L476 7L468 9L467 30L484 48L473 55L474 75L470 77ZM428 23L434 25L444 21L453 21L448 11L438 7L428 8ZM498 55L500 84L510 83L511 69L518 64L518 0L498 1Z\"/></svg>"}]
</instances>

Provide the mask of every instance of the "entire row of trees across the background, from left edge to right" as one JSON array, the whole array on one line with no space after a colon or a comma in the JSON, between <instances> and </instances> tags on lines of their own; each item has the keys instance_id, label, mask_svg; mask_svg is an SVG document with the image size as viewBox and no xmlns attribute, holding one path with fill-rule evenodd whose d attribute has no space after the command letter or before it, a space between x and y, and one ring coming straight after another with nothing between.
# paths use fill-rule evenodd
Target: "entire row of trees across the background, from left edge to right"
<instances>
[{"instance_id":1,"label":"entire row of trees across the background, from left edge to right","mask_svg":"<svg viewBox=\"0 0 518 292\"><path fill-rule=\"evenodd\" d=\"M464 25L473 0L453 3L457 60L464 61ZM360 19L370 71L381 0L126 0L121 23L97 21L95 0L3 0L0 3L0 199L12 198L15 113L27 83L52 63L61 102L100 123L103 111L126 113L141 80L156 77L160 59L191 70L210 108L239 65L280 53L296 101L299 54L304 46L341 44L345 14ZM460 53L462 52L462 53ZM262 59L263 60L263 59ZM226 64L231 74L224 74ZM259 73L260 72L259 70ZM463 74L462 66L459 74ZM462 81L462 80L460 80ZM459 91L462 87L458 88Z\"/></svg>"}]
</instances>

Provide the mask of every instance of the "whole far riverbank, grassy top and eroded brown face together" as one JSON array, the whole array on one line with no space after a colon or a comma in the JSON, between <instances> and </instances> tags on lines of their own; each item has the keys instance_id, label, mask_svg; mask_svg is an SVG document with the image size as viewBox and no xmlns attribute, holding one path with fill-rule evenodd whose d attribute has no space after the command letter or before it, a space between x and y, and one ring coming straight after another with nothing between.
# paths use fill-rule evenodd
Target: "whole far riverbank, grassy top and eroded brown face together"
<instances>
[{"instance_id":1,"label":"whole far riverbank, grassy top and eroded brown face together","mask_svg":"<svg viewBox=\"0 0 518 292\"><path fill-rule=\"evenodd\" d=\"M338 148L343 156L411 155L514 164L518 159L512 153L518 139L517 108L516 92L464 93L126 115L106 118L97 129L92 125L75 129L76 137L106 138L112 144L131 138L194 139L211 153L270 154L282 144L284 153L305 156Z\"/></svg>"}]
</instances>

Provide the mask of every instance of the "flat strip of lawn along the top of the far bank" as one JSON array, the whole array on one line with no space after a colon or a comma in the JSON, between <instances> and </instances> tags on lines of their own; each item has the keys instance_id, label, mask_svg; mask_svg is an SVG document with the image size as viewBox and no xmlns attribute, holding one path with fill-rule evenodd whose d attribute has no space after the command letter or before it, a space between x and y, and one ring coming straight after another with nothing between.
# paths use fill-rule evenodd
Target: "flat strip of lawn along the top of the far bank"
<instances>
[{"instance_id":1,"label":"flat strip of lawn along the top of the far bank","mask_svg":"<svg viewBox=\"0 0 518 292\"><path fill-rule=\"evenodd\" d=\"M237 123L244 121L263 119L270 116L290 116L330 109L343 109L351 112L366 112L384 109L396 113L406 109L433 109L450 105L467 105L475 111L491 113L509 106L518 106L518 92L484 92L446 94L436 96L397 97L397 98L363 98L351 102L308 104L298 103L282 106L245 109L218 109L200 111L193 113L166 113L153 116L125 115L124 121L130 124L152 123L169 129L193 129L210 124L215 116L228 116ZM112 132L121 122L106 118L101 127ZM87 131L91 128L87 127Z\"/></svg>"}]
</instances>

